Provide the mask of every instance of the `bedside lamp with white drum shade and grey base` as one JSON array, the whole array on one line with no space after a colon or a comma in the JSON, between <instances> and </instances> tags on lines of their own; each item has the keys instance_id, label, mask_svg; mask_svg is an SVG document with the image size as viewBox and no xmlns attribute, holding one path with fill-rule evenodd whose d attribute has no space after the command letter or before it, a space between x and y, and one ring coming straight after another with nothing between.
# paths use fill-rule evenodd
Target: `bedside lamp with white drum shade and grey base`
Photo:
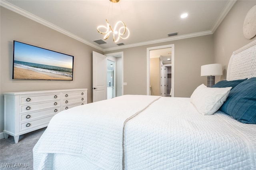
<instances>
[{"instance_id":1,"label":"bedside lamp with white drum shade and grey base","mask_svg":"<svg viewBox=\"0 0 256 170\"><path fill-rule=\"evenodd\" d=\"M215 76L222 75L221 64L207 64L201 66L201 76L207 76L207 87L215 84Z\"/></svg>"}]
</instances>

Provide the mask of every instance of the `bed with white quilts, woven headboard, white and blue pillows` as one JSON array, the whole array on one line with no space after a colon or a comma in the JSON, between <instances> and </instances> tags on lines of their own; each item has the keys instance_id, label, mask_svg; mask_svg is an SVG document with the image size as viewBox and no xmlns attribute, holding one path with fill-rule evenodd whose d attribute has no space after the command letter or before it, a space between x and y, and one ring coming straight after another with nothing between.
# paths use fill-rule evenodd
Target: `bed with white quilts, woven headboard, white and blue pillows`
<instances>
[{"instance_id":1,"label":"bed with white quilts, woven headboard, white and blue pillows","mask_svg":"<svg viewBox=\"0 0 256 170\"><path fill-rule=\"evenodd\" d=\"M33 148L34 169L256 169L254 77L256 41L234 51L227 81L190 98L124 95L62 111Z\"/></svg>"}]
</instances>

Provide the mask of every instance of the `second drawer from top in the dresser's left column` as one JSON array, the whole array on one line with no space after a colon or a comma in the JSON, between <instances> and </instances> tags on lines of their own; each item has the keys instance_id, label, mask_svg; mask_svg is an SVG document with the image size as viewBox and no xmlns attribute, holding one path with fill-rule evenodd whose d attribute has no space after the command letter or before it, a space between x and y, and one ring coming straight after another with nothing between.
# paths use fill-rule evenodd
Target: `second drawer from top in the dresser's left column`
<instances>
[{"instance_id":1,"label":"second drawer from top in the dresser's left column","mask_svg":"<svg viewBox=\"0 0 256 170\"><path fill-rule=\"evenodd\" d=\"M58 107L60 106L60 101L49 101L44 103L34 103L30 105L20 105L20 114L21 113L27 113L32 111L38 111L42 109L52 108L52 107Z\"/></svg>"}]
</instances>

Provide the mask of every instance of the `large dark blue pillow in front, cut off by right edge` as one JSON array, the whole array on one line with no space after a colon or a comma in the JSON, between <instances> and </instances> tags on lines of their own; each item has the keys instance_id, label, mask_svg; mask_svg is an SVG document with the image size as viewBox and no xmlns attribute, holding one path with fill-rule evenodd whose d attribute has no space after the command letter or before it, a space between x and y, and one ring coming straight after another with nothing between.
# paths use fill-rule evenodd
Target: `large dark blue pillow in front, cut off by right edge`
<instances>
[{"instance_id":1,"label":"large dark blue pillow in front, cut off by right edge","mask_svg":"<svg viewBox=\"0 0 256 170\"><path fill-rule=\"evenodd\" d=\"M241 123L256 124L256 77L234 87L220 111Z\"/></svg>"}]
</instances>

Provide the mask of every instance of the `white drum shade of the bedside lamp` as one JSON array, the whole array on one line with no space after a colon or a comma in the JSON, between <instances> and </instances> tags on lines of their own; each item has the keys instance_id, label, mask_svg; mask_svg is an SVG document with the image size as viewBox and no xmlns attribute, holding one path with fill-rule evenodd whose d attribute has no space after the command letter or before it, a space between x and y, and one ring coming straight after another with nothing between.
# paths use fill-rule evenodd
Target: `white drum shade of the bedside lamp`
<instances>
[{"instance_id":1,"label":"white drum shade of the bedside lamp","mask_svg":"<svg viewBox=\"0 0 256 170\"><path fill-rule=\"evenodd\" d=\"M201 66L201 76L222 75L221 64L207 64Z\"/></svg>"}]
</instances>

